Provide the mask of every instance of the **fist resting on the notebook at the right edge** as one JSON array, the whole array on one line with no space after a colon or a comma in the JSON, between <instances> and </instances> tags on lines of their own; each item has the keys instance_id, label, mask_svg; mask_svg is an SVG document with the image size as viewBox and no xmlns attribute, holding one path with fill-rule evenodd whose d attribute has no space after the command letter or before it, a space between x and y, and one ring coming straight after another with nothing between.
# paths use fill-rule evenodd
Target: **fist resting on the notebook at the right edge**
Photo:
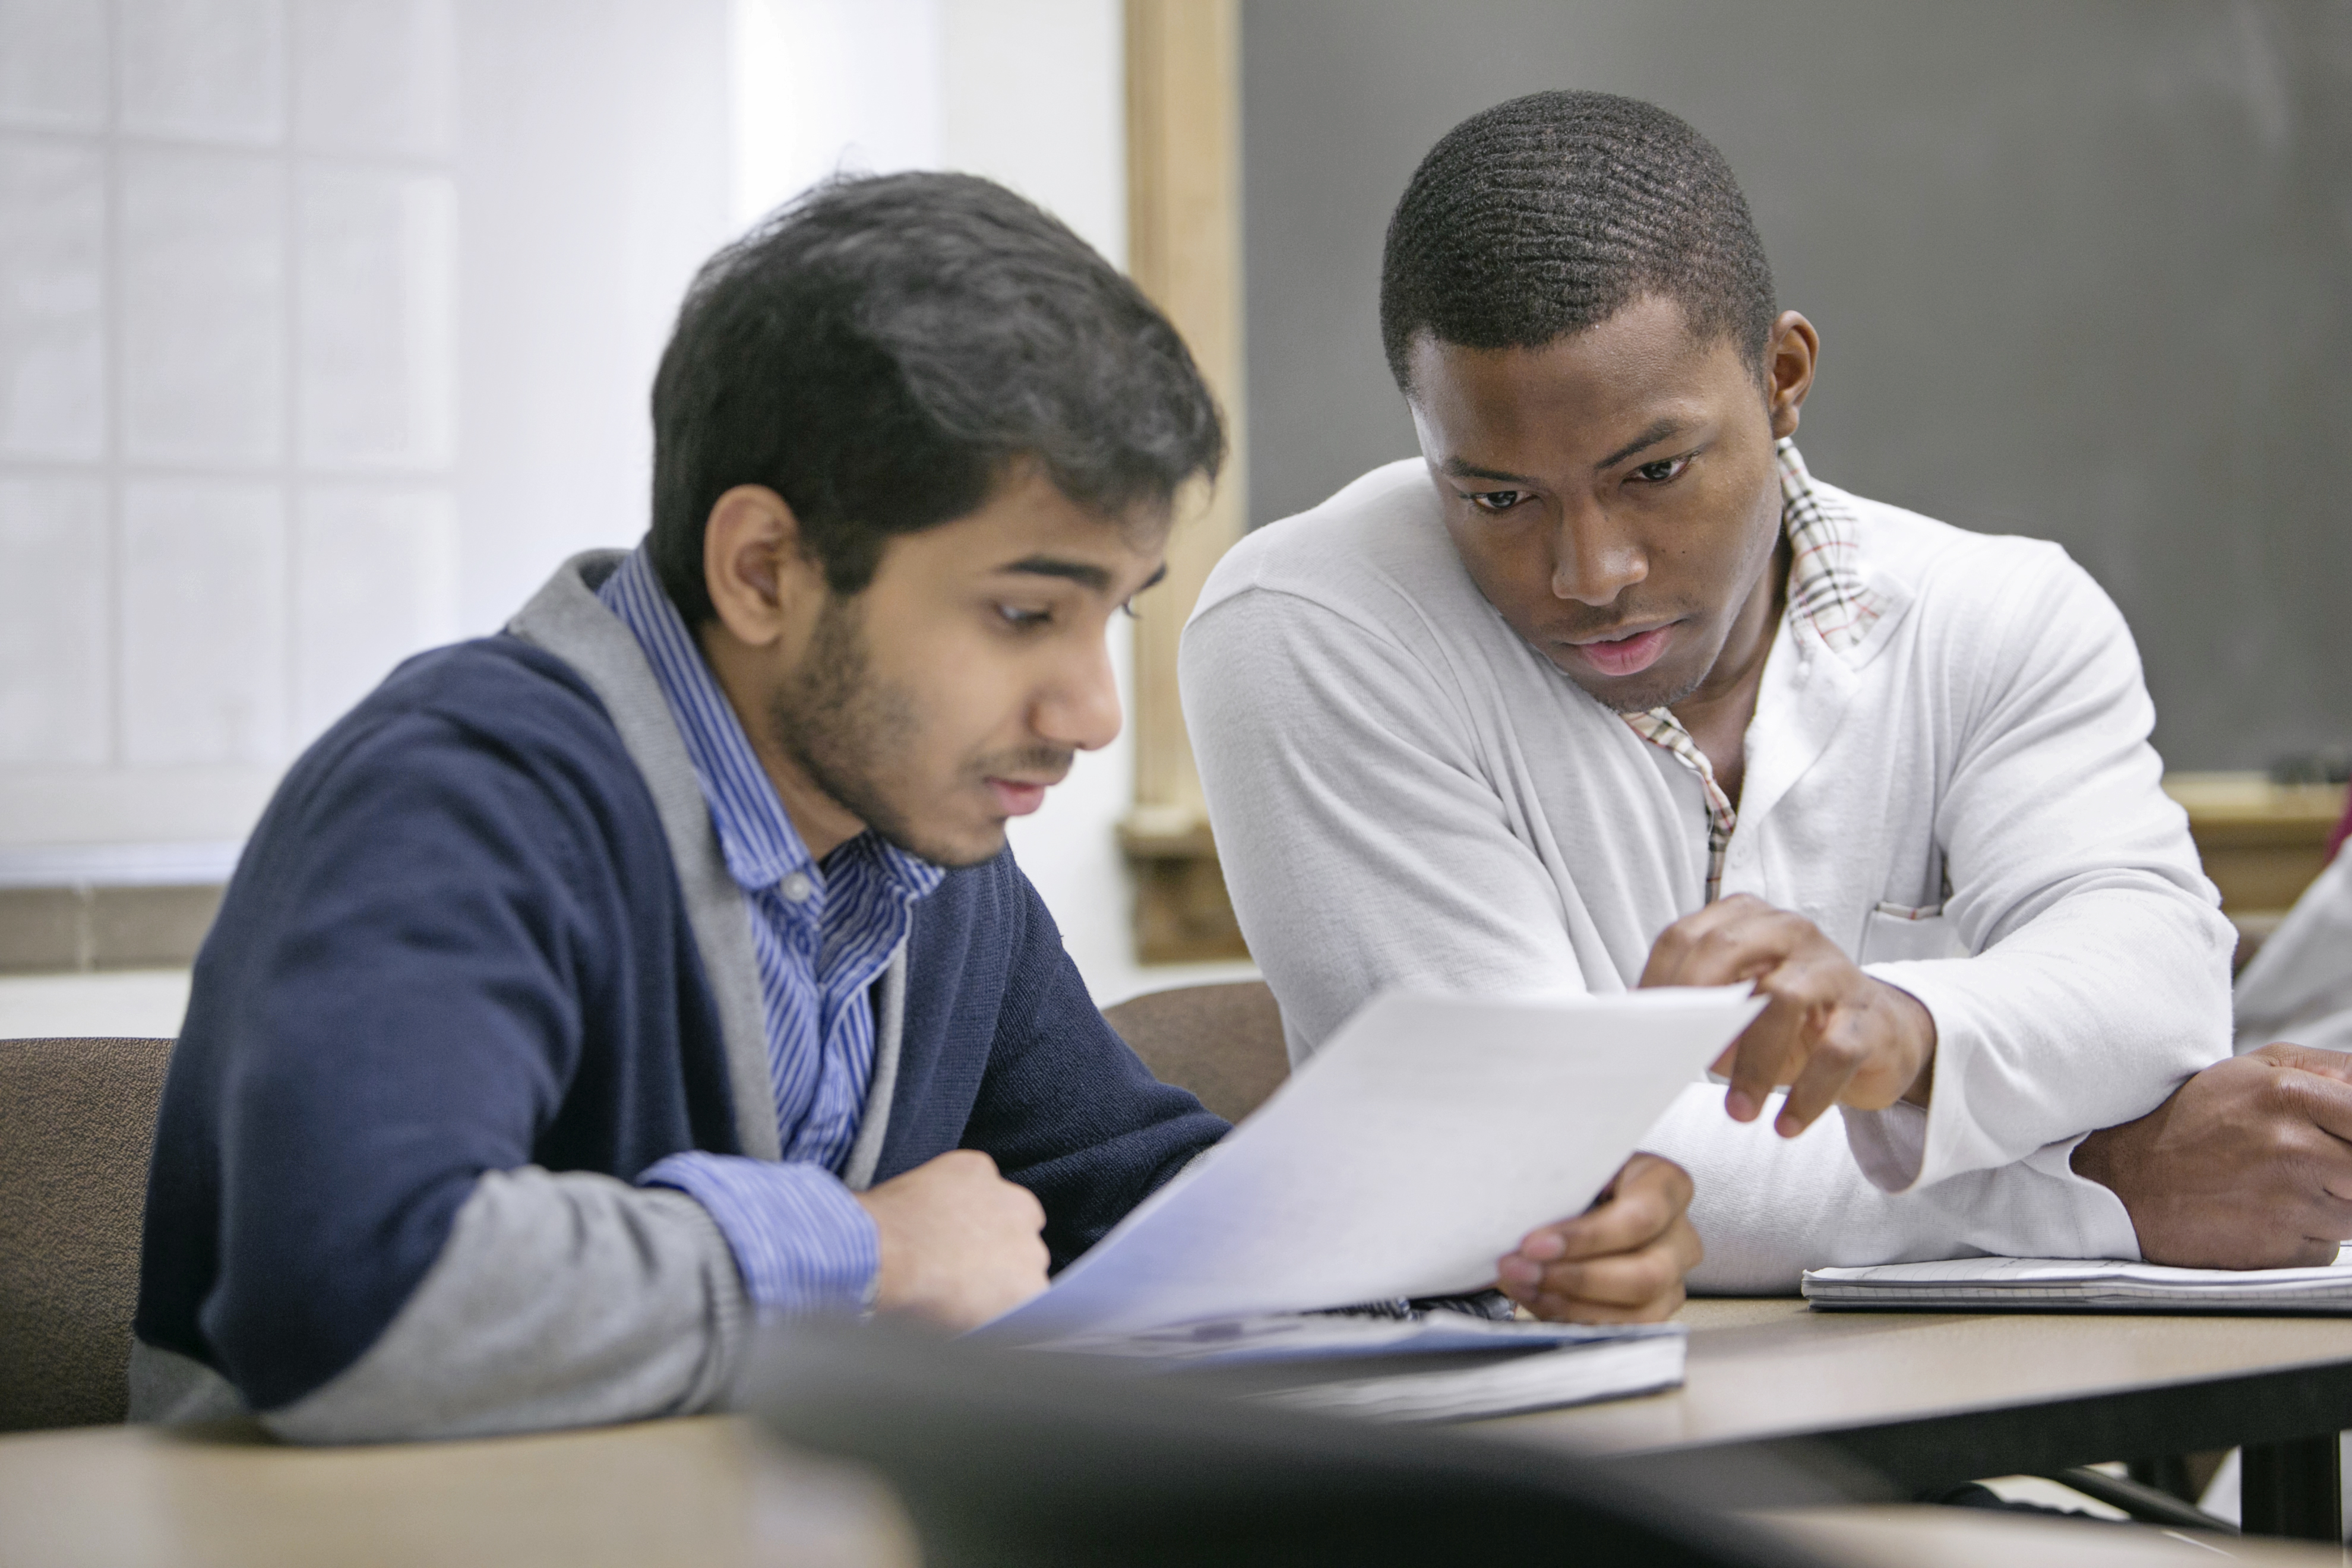
<instances>
[{"instance_id":1,"label":"fist resting on the notebook at the right edge","mask_svg":"<svg viewBox=\"0 0 2352 1568\"><path fill-rule=\"evenodd\" d=\"M2352 1237L2352 1058L2279 1044L2213 1063L2074 1145L2074 1171L2124 1199L2147 1262L2333 1262Z\"/></svg>"}]
</instances>

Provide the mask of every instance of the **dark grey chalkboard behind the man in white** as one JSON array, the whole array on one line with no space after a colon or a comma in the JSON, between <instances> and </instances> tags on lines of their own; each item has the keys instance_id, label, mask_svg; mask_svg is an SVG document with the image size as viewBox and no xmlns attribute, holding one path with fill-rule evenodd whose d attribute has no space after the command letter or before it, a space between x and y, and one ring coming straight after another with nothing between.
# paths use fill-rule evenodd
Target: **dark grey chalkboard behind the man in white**
<instances>
[{"instance_id":1,"label":"dark grey chalkboard behind the man in white","mask_svg":"<svg viewBox=\"0 0 2352 1568\"><path fill-rule=\"evenodd\" d=\"M1388 209L1604 87L1731 158L1823 334L1804 451L2117 597L2180 769L2352 741L2352 5L1249 0L1251 517L1414 451Z\"/></svg>"}]
</instances>

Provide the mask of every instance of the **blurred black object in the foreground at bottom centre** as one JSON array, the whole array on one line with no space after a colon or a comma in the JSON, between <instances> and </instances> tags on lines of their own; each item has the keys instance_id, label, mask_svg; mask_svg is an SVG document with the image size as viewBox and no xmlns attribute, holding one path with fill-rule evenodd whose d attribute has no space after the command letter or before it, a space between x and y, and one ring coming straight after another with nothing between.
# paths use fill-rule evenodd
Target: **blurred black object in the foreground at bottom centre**
<instances>
[{"instance_id":1,"label":"blurred black object in the foreground at bottom centre","mask_svg":"<svg viewBox=\"0 0 2352 1568\"><path fill-rule=\"evenodd\" d=\"M931 1568L1799 1568L1693 1502L1498 1441L1214 1401L896 1326L771 1328L739 1399L877 1472Z\"/></svg>"}]
</instances>

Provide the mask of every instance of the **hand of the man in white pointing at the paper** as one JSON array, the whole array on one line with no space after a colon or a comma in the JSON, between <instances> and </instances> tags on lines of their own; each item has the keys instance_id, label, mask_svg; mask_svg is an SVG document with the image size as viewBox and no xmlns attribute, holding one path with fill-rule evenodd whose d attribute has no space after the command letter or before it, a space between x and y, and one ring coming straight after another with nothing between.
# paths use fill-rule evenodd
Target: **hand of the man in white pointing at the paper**
<instances>
[{"instance_id":1,"label":"hand of the man in white pointing at the paper","mask_svg":"<svg viewBox=\"0 0 2352 1568\"><path fill-rule=\"evenodd\" d=\"M1832 1105L1926 1105L1936 1018L1905 990L1872 980L1802 914L1733 893L1677 919L1649 950L1642 985L1755 980L1764 1013L1715 1060L1731 1079L1724 1110L1755 1121L1788 1084L1773 1131L1795 1138Z\"/></svg>"}]
</instances>

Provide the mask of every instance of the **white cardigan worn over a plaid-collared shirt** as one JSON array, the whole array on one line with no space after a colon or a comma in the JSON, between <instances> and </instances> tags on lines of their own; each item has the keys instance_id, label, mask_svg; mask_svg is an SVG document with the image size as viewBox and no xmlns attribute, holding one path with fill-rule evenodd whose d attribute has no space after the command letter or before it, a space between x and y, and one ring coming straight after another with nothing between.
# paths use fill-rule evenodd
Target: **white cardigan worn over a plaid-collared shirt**
<instances>
[{"instance_id":1,"label":"white cardigan worn over a plaid-collared shirt","mask_svg":"<svg viewBox=\"0 0 2352 1568\"><path fill-rule=\"evenodd\" d=\"M1698 1284L2136 1255L2067 1154L2227 1056L2234 943L2159 788L2138 651L2058 545L1820 489L1886 614L1846 651L1783 618L1724 893L1797 910L1926 1004L1933 1110L1785 1145L1693 1086L1646 1147L1700 1182ZM1294 1060L1383 985L1625 990L1703 900L1696 776L1486 604L1421 461L1244 538L1181 677Z\"/></svg>"}]
</instances>

